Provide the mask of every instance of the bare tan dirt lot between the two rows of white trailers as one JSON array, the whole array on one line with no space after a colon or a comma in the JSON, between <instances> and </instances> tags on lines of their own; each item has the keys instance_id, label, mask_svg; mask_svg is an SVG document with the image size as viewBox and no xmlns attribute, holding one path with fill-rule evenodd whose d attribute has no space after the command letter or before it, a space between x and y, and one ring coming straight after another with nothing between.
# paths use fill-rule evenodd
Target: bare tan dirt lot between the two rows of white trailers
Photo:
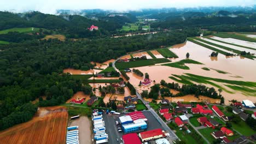
<instances>
[{"instance_id":1,"label":"bare tan dirt lot between the two rows of white trailers","mask_svg":"<svg viewBox=\"0 0 256 144\"><path fill-rule=\"evenodd\" d=\"M88 117L80 117L75 120L71 120L69 127L78 125L79 127L79 143L88 144L92 143L92 125L91 120Z\"/></svg>"}]
</instances>

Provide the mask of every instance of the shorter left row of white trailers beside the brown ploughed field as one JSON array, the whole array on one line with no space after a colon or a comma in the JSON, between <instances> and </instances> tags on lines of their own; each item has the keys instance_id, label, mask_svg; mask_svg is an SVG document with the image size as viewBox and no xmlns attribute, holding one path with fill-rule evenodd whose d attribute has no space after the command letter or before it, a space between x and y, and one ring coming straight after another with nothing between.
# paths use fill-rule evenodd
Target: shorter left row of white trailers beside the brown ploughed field
<instances>
[{"instance_id":1,"label":"shorter left row of white trailers beside the brown ploughed field","mask_svg":"<svg viewBox=\"0 0 256 144\"><path fill-rule=\"evenodd\" d=\"M79 144L79 131L78 126L68 127L67 128L67 137L66 137L66 143L67 144Z\"/></svg>"}]
</instances>

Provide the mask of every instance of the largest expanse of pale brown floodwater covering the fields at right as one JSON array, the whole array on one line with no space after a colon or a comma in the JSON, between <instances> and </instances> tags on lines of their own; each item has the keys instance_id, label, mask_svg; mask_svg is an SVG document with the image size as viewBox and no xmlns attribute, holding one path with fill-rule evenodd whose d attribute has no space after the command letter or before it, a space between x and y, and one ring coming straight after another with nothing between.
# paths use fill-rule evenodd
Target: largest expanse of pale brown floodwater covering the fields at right
<instances>
[{"instance_id":1,"label":"largest expanse of pale brown floodwater covering the fields at right","mask_svg":"<svg viewBox=\"0 0 256 144\"><path fill-rule=\"evenodd\" d=\"M186 58L186 53L189 52L190 59L193 59L197 62L203 63L203 65L199 64L185 64L190 69L178 69L167 66L162 66L161 64L156 64L152 66L146 67L138 67L136 69L142 71L142 73L148 73L149 78L156 83L160 83L161 80L165 80L166 82L176 82L172 79L168 78L172 76L172 74L176 75L184 75L184 73L190 73L195 75L213 77L224 80L237 80L237 81L253 81L256 82L256 61L253 61L248 58L243 58L240 56L232 56L226 57L224 55L219 54L218 57L210 57L212 50L206 49L200 45L191 43L187 41L187 43L174 45L170 48L174 53L177 54L179 58L171 59L173 62L181 61ZM210 71L201 69L202 67L212 68ZM222 71L228 72L228 74L218 73L216 70L218 69ZM132 85L141 93L143 90L150 91L150 86L153 86L153 83L147 87L141 86L139 87L139 81L143 80L143 77L138 77L135 74L127 73L130 77L130 82ZM217 82L214 82L217 83ZM198 84L198 83L196 83ZM226 88L228 91L233 93L223 92L223 96L225 98L225 103L228 103L228 100L237 99L244 100L249 99L252 101L256 101L256 97L252 97L237 91L232 91L232 89L225 87L223 83L218 83L218 85ZM208 87L213 87L211 85L206 85ZM216 88L216 87L215 87ZM218 89L218 88L216 88ZM193 99L194 100L194 99Z\"/></svg>"}]
</instances>

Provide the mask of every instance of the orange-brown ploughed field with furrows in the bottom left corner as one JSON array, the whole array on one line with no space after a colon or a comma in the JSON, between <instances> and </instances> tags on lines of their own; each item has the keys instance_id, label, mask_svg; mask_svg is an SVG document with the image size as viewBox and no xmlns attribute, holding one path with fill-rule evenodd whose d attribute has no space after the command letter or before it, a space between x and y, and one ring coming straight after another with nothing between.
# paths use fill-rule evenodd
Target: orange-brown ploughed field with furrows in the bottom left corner
<instances>
[{"instance_id":1,"label":"orange-brown ploughed field with furrows in the bottom left corner","mask_svg":"<svg viewBox=\"0 0 256 144\"><path fill-rule=\"evenodd\" d=\"M26 123L0 132L1 143L66 143L68 113L63 106L39 107Z\"/></svg>"}]
</instances>

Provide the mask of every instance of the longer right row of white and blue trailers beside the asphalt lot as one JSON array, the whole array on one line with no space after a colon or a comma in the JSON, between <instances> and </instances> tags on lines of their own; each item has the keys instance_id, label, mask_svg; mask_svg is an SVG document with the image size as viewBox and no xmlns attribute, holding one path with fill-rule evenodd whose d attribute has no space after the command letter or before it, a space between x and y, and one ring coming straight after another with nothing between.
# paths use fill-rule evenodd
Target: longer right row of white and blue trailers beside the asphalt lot
<instances>
[{"instance_id":1,"label":"longer right row of white and blue trailers beside the asphalt lot","mask_svg":"<svg viewBox=\"0 0 256 144\"><path fill-rule=\"evenodd\" d=\"M92 121L94 122L94 140L96 141L96 144L107 143L108 134L106 133L106 127L102 115L94 116Z\"/></svg>"}]
</instances>

